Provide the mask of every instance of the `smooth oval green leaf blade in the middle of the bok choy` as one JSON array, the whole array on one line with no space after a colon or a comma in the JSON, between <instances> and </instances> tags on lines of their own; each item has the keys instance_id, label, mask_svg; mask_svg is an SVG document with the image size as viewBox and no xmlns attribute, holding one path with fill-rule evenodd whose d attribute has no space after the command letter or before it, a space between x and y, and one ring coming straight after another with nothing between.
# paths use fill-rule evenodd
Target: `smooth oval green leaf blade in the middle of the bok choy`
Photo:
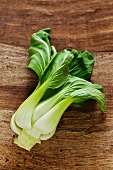
<instances>
[{"instance_id":1,"label":"smooth oval green leaf blade in the middle of the bok choy","mask_svg":"<svg viewBox=\"0 0 113 170\"><path fill-rule=\"evenodd\" d=\"M50 79L49 87L55 89L63 85L69 75L69 64L73 59L73 54L64 50L58 52L54 57L44 75L41 77L41 84L48 78Z\"/></svg>"}]
</instances>

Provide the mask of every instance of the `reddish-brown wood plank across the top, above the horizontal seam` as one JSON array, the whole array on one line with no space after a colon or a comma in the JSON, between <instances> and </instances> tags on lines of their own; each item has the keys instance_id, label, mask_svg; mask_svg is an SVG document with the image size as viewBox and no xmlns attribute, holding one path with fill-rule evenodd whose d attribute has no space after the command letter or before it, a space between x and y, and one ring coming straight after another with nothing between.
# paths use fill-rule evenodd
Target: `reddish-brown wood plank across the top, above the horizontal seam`
<instances>
[{"instance_id":1,"label":"reddish-brown wood plank across the top, above the horizontal seam","mask_svg":"<svg viewBox=\"0 0 113 170\"><path fill-rule=\"evenodd\" d=\"M111 0L1 1L0 42L28 48L32 33L52 29L52 44L89 51L113 51Z\"/></svg>"}]
</instances>

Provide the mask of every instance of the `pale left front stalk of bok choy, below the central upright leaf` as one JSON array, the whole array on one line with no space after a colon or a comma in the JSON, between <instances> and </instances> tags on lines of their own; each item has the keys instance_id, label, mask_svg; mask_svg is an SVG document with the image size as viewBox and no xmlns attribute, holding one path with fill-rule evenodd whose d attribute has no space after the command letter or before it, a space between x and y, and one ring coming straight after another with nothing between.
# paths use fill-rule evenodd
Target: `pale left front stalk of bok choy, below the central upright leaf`
<instances>
[{"instance_id":1,"label":"pale left front stalk of bok choy, below the central upright leaf","mask_svg":"<svg viewBox=\"0 0 113 170\"><path fill-rule=\"evenodd\" d=\"M28 97L15 112L15 122L23 129L31 129L32 114L48 87L48 81L43 83L30 97Z\"/></svg>"}]
</instances>

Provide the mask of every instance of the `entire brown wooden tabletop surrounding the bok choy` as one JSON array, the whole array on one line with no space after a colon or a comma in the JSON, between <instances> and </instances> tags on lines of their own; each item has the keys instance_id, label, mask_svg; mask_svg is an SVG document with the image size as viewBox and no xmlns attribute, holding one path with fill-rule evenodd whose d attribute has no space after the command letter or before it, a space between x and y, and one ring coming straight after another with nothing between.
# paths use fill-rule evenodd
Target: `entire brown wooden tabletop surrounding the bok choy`
<instances>
[{"instance_id":1,"label":"entire brown wooden tabletop surrounding the bok choy","mask_svg":"<svg viewBox=\"0 0 113 170\"><path fill-rule=\"evenodd\" d=\"M94 54L92 82L104 87L107 110L96 102L64 113L55 135L30 152L13 144L10 119L35 88L26 69L32 33L52 29L57 50L72 47ZM0 170L113 169L113 1L0 1Z\"/></svg>"}]
</instances>

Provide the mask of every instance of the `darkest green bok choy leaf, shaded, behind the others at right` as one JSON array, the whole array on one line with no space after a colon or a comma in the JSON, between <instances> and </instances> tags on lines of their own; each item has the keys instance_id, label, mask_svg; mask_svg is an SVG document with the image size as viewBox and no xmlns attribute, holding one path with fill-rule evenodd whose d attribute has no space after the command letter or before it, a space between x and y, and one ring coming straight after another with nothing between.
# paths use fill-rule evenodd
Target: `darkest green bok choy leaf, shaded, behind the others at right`
<instances>
[{"instance_id":1,"label":"darkest green bok choy leaf, shaded, behind the others at right","mask_svg":"<svg viewBox=\"0 0 113 170\"><path fill-rule=\"evenodd\" d=\"M83 79L89 79L94 66L94 57L88 51L77 51L74 49L68 49L74 58L70 63L70 74Z\"/></svg>"}]
</instances>

